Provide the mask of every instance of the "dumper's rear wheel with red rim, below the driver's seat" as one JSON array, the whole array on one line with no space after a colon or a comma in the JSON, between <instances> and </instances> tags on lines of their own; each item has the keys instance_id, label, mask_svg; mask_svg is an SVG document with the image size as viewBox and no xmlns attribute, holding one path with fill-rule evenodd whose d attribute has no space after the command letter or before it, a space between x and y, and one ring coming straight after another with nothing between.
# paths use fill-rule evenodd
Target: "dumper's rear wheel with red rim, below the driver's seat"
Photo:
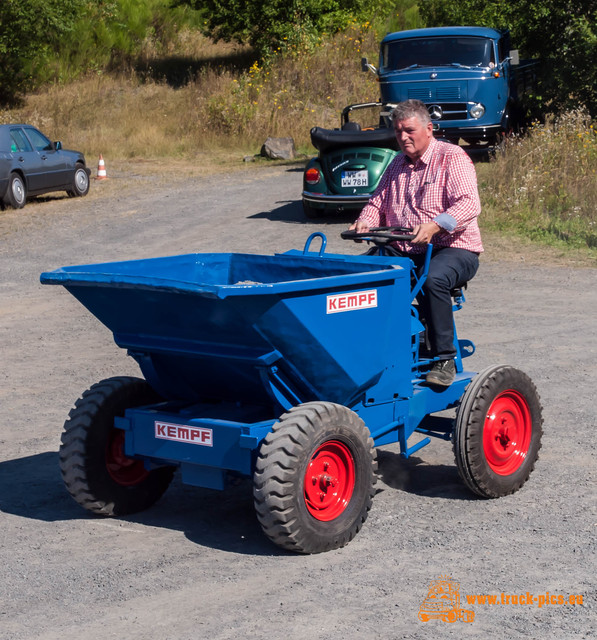
<instances>
[{"instance_id":1,"label":"dumper's rear wheel with red rim, below the driver's seat","mask_svg":"<svg viewBox=\"0 0 597 640\"><path fill-rule=\"evenodd\" d=\"M541 401L531 379L505 365L467 387L456 414L454 456L465 484L484 498L518 491L541 448Z\"/></svg>"}]
</instances>

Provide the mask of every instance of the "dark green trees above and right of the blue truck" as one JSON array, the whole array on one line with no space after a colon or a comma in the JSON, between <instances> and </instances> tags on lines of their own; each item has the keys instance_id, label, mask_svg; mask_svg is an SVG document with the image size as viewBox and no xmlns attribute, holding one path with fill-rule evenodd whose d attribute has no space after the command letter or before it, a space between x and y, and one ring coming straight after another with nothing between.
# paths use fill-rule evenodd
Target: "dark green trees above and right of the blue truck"
<instances>
[{"instance_id":1,"label":"dark green trees above and right of the blue truck","mask_svg":"<svg viewBox=\"0 0 597 640\"><path fill-rule=\"evenodd\" d=\"M597 3L586 0L420 0L428 26L508 28L525 55L542 63L544 110L584 105L597 115Z\"/></svg>"}]
</instances>

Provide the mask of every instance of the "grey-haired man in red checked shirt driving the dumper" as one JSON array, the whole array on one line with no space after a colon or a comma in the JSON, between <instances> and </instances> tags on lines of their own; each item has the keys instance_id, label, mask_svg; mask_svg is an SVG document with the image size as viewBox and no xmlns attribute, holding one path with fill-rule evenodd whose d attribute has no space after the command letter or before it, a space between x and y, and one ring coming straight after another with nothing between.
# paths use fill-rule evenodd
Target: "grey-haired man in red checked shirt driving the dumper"
<instances>
[{"instance_id":1,"label":"grey-haired man in red checked shirt driving the dumper","mask_svg":"<svg viewBox=\"0 0 597 640\"><path fill-rule=\"evenodd\" d=\"M391 119L402 154L389 165L350 229L362 233L375 227L412 228L412 240L392 244L418 271L427 245L433 243L429 274L418 296L430 355L436 359L426 381L450 386L456 375L450 291L476 274L483 251L477 175L461 147L433 137L427 107L419 100L399 103Z\"/></svg>"}]
</instances>

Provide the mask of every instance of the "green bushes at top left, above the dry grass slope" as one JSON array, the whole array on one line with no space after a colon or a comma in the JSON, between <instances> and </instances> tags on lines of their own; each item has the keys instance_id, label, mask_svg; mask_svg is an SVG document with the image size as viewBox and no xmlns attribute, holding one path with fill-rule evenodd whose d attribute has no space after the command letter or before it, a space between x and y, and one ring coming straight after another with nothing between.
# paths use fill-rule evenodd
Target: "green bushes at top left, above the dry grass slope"
<instances>
[{"instance_id":1,"label":"green bushes at top left, above the dry grass slope","mask_svg":"<svg viewBox=\"0 0 597 640\"><path fill-rule=\"evenodd\" d=\"M171 0L2 0L0 104L43 82L165 52L196 19Z\"/></svg>"}]
</instances>

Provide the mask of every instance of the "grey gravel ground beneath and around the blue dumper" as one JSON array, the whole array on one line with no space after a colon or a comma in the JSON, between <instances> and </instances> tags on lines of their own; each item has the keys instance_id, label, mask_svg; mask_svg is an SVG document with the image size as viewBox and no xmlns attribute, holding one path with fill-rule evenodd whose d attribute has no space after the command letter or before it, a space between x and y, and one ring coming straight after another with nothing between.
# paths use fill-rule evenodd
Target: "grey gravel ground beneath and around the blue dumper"
<instances>
[{"instance_id":1,"label":"grey gravel ground beneath and around the blue dumper","mask_svg":"<svg viewBox=\"0 0 597 640\"><path fill-rule=\"evenodd\" d=\"M175 479L150 510L102 519L63 487L60 433L86 388L138 369L39 274L187 252L269 254L302 248L315 230L328 250L361 251L339 237L347 219L305 221L298 167L245 170L225 183L108 171L86 198L58 194L0 212L0 638L596 637L597 269L485 239L458 326L477 345L469 369L511 364L541 394L543 448L518 493L476 498L449 443L434 440L408 460L396 446L379 452L367 522L325 554L274 547L248 481L220 493ZM443 575L460 583L473 622L418 619ZM498 604L469 605L471 594ZM545 604L511 604L526 594Z\"/></svg>"}]
</instances>

